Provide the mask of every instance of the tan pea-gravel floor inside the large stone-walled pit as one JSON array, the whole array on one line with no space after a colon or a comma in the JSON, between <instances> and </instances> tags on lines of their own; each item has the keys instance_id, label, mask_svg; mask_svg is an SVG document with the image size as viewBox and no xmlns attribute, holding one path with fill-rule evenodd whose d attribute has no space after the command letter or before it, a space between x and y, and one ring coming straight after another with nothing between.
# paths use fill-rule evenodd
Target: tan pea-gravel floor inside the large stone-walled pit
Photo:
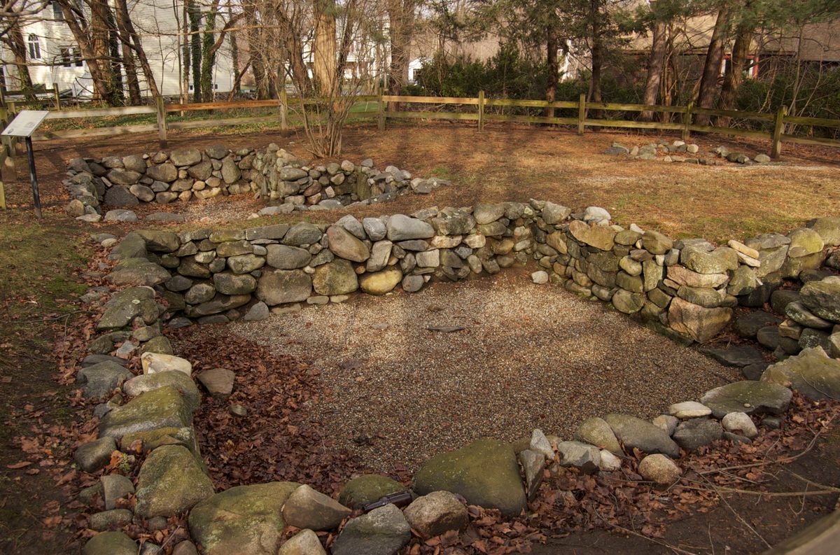
<instances>
[{"instance_id":1,"label":"tan pea-gravel floor inside the large stone-walled pit","mask_svg":"<svg viewBox=\"0 0 840 555\"><path fill-rule=\"evenodd\" d=\"M524 270L229 330L320 369L331 394L315 418L384 472L416 469L475 437L514 440L541 427L571 438L587 416L653 417L738 379L601 303L533 285Z\"/></svg>"}]
</instances>

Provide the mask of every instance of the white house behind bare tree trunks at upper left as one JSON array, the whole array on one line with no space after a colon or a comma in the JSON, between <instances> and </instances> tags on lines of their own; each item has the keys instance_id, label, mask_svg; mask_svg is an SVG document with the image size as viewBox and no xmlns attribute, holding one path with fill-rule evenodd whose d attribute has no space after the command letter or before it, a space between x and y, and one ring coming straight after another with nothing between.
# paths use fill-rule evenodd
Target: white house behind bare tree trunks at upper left
<instances>
[{"instance_id":1,"label":"white house behind bare tree trunks at upper left","mask_svg":"<svg viewBox=\"0 0 840 555\"><path fill-rule=\"evenodd\" d=\"M149 59L158 90L167 97L181 94L183 40L183 3L181 0L129 0L129 17L140 36L143 49ZM72 91L75 97L91 97L93 86L87 63L81 59L81 52L70 28L63 21L64 16L58 3L48 3L30 21L23 24L22 32L26 43L26 59L29 76L35 85L52 89L58 85L60 91ZM217 27L224 24L222 14L217 16ZM202 23L203 27L203 23ZM19 90L17 67L14 57L5 45L0 46L0 61L3 63L3 85L6 90ZM148 95L143 72L136 62L140 90ZM189 91L192 93L192 72ZM123 76L124 82L124 76ZM229 92L234 84L234 70L227 45L216 53L213 68L215 92Z\"/></svg>"}]
</instances>

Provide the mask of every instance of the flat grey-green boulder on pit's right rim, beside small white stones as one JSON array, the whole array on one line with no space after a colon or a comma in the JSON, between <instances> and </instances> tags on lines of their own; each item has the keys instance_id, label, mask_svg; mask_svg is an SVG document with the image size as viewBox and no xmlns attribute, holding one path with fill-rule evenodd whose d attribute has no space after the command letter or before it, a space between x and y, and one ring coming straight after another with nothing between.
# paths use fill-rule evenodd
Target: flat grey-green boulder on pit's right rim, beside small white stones
<instances>
[{"instance_id":1,"label":"flat grey-green boulder on pit's right rim, beside small white stones","mask_svg":"<svg viewBox=\"0 0 840 555\"><path fill-rule=\"evenodd\" d=\"M730 412L778 415L790 405L792 395L783 385L745 380L706 391L700 402L711 409L715 418L722 418Z\"/></svg>"}]
</instances>

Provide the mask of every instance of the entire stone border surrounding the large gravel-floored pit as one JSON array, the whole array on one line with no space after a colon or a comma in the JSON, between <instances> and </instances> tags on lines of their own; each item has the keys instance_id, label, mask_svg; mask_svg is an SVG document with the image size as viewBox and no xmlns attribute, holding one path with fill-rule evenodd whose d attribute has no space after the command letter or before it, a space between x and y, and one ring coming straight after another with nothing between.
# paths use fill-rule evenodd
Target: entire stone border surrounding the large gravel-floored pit
<instances>
[{"instance_id":1,"label":"entire stone border surrounding the large gravel-floored pit","mask_svg":"<svg viewBox=\"0 0 840 555\"><path fill-rule=\"evenodd\" d=\"M749 442L759 433L753 416L764 416L766 427L778 427L790 403L789 386L809 399L840 397L840 362L822 347L827 342L830 350L838 337L824 330L833 332L840 323L840 278L817 270L826 259L826 244L838 242L836 218L816 220L787 236L764 235L715 248L702 240L674 242L660 233L612 226L609 215L595 207L572 214L537 201L430 209L362 222L344 217L323 227L299 223L180 235L129 233L114 245L110 257L118 264L107 276L127 288L104 304L97 322L102 335L92 341L92 354L78 375L89 399L121 393L97 405L100 438L78 448L76 462L97 472L118 449L139 448L146 458L134 481L108 474L82 492L82 501L102 494L106 508L91 516L91 526L103 531L84 553L136 553L137 545L123 532L105 530L134 518L165 526L166 517L187 510L192 540L205 553L275 553L287 525L303 531L284 543L281 553L323 553L312 531L342 524L333 553L368 548L395 553L409 541L412 528L433 537L465 526L466 510L457 495L518 515L536 494L545 469L612 472L634 449L644 453L638 464L643 479L672 484L680 476L680 449L694 451L722 438ZM328 254L313 264L322 253ZM404 490L381 476L350 480L338 502L288 482L215 493L192 430L192 411L201 402L192 364L172 356L161 334L163 322L255 319L265 317L269 306L284 312L302 301L343 301L357 288L385 294L402 285L404 291L416 291L428 280L495 273L528 259L544 269L534 272L537 282L553 280L580 295L611 301L665 332L698 341L726 326L739 302L763 304L783 277L802 277L806 283L795 293L798 300L782 300L788 320L777 327L778 337L787 337L781 335L783 327L789 330L785 333L798 333L796 347L780 346L777 354L784 360L765 369L760 380L723 385L699 402L669 406L653 422L611 414L580 423L567 441L534 430L521 445L483 438L438 454L414 475L412 490L420 496L405 510L385 505L346 520L352 509ZM769 279L774 274L778 280ZM87 301L94 301L102 291L88 295ZM200 300L190 302L195 296ZM815 338L819 341L812 346ZM788 358L786 348L802 347ZM136 353L142 353L143 374L134 376L124 360ZM216 374L198 378L213 394L229 394L233 376ZM133 511L117 503L126 495L137 500ZM191 542L181 544L178 555L195 552Z\"/></svg>"}]
</instances>

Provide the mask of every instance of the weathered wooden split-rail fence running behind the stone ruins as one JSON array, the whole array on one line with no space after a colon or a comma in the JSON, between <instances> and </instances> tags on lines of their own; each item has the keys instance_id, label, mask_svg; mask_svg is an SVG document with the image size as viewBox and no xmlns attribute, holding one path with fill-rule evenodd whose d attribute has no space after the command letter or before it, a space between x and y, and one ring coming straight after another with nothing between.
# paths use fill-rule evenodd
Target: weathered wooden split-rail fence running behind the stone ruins
<instances>
[{"instance_id":1,"label":"weathered wooden split-rail fence running behind the stone ruins","mask_svg":"<svg viewBox=\"0 0 840 555\"><path fill-rule=\"evenodd\" d=\"M838 119L803 118L788 116L784 109L777 113L741 112L736 110L715 110L689 106L650 106L645 104L628 104L617 102L587 102L585 95L580 95L576 101L560 100L547 102L544 100L513 100L506 98L486 98L484 92L478 97L415 97L415 96L393 96L379 94L356 97L358 102L375 103L375 109L353 113L356 118L374 118L380 129L384 129L388 119L447 119L454 121L476 122L479 130L483 130L487 122L518 122L518 123L542 123L552 125L570 125L577 128L578 134L583 134L585 128L627 128L627 129L659 129L669 131L680 131L684 140L690 138L692 132L716 133L768 139L771 143L770 155L778 158L781 153L782 143L794 144L820 144L840 146L840 140L820 137L802 136L799 134L785 133L788 125L806 127L827 127L840 128ZM132 115L155 115L155 123L135 123L130 125L118 125L104 128L84 129L63 129L55 131L41 131L34 135L35 140L45 139L76 139L81 137L107 137L123 134L158 132L161 146L166 144L167 135L170 130L235 126L249 123L265 123L271 118L277 118L281 124L281 130L288 129L288 113L290 108L306 107L315 102L323 102L323 99L286 97L285 91L281 97L270 100L248 100L239 102L201 102L197 104L171 103L165 104L162 99L157 99L152 106L133 107L103 107L92 109L71 109L51 110L48 120L54 119L87 119L107 118L115 116ZM0 123L8 123L18 112L21 102L7 102L5 108L0 108ZM446 112L439 109L415 109L418 106L460 106L466 107L466 111ZM475 107L475 110L470 109ZM280 110L279 116L249 116L231 118L202 118L187 119L184 121L171 121L169 114L197 112L197 111L224 111L239 109L276 108ZM408 109L405 109L408 108ZM567 110L571 113L568 116L545 117L539 115L528 115L523 113L498 113L488 112L488 108L554 108ZM638 113L653 112L663 114L675 114L677 121L635 121L632 119L610 119L608 113ZM709 118L730 118L739 121L754 121L761 123L772 123L773 129L760 131L748 128L722 127L706 123L695 123L697 116ZM669 118L664 118L669 119ZM13 146L13 145L12 145ZM4 149L5 154L14 154L14 149L8 144Z\"/></svg>"}]
</instances>

